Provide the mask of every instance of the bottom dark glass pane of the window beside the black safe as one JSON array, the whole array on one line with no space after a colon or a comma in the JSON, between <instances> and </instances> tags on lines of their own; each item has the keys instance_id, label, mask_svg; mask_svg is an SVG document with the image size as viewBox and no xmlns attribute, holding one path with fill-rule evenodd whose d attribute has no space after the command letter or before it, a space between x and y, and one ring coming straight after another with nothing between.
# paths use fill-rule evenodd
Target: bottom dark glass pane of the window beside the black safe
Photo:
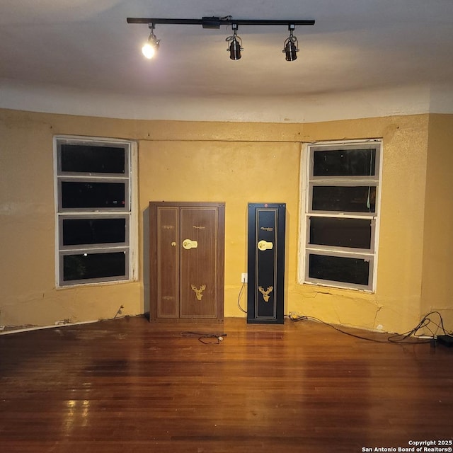
<instances>
[{"instance_id":1,"label":"bottom dark glass pane of the window beside the black safe","mask_svg":"<svg viewBox=\"0 0 453 453\"><path fill-rule=\"evenodd\" d=\"M309 277L368 286L369 261L310 253Z\"/></svg>"}]
</instances>

